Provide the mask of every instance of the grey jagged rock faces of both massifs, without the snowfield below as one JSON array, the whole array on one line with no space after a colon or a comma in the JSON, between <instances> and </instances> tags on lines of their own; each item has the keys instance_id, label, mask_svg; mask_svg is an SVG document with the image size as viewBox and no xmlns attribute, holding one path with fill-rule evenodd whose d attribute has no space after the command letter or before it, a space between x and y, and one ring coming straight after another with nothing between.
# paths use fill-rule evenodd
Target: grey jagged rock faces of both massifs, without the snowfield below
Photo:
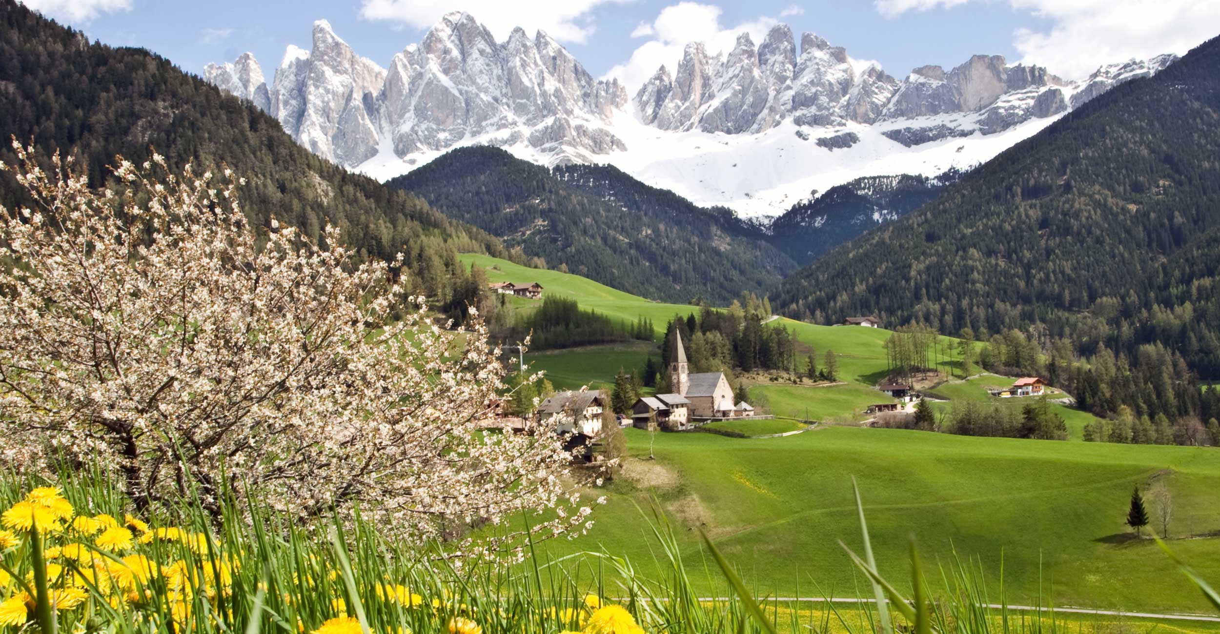
<instances>
[{"instance_id":1,"label":"grey jagged rock faces of both massifs, without the snowfield below","mask_svg":"<svg viewBox=\"0 0 1220 634\"><path fill-rule=\"evenodd\" d=\"M628 104L617 80L595 79L545 33L518 28L498 43L472 16L454 12L386 69L318 21L310 50L288 46L270 87L250 54L209 65L204 77L270 112L320 156L393 176L415 156L475 143L523 149L553 165L601 162L628 150L615 118L632 115L661 130L734 135L784 122L876 126L882 139L921 145L1057 116L1174 59L1110 65L1065 83L1042 67L976 55L949 71L921 66L895 79L813 33L798 46L778 24L761 43L739 35L722 55L688 44L672 73L659 67ZM810 132L825 135L798 137Z\"/></svg>"}]
</instances>

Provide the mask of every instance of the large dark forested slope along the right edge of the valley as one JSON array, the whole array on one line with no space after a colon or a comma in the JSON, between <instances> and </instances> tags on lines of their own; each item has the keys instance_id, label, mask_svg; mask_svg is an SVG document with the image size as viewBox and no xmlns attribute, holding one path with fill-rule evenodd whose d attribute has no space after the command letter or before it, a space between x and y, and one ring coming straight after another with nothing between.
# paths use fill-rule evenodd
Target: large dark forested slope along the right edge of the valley
<instances>
[{"instance_id":1,"label":"large dark forested slope along the right edge of the valley","mask_svg":"<svg viewBox=\"0 0 1220 634\"><path fill-rule=\"evenodd\" d=\"M1220 377L1220 40L1120 85L773 294L786 315L1020 329ZM1181 376L1182 368L1174 374Z\"/></svg>"}]
</instances>

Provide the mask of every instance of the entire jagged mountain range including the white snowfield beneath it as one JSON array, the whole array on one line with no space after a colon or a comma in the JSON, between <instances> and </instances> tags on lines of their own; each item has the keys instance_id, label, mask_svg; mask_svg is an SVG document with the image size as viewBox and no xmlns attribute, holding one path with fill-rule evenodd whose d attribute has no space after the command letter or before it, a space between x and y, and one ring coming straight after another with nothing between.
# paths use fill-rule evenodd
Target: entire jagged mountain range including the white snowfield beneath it
<instances>
[{"instance_id":1,"label":"entire jagged mountain range including the white snowfield beneath it","mask_svg":"<svg viewBox=\"0 0 1220 634\"><path fill-rule=\"evenodd\" d=\"M897 79L787 24L728 51L688 43L628 99L543 32L497 41L444 15L386 68L326 20L288 46L270 88L253 55L204 76L276 117L320 156L390 178L459 145L540 163L609 162L648 184L743 216L776 216L810 190L863 176L935 176L991 158L1118 83L1176 56L1108 65L1081 82L975 55ZM672 71L671 71L672 69ZM630 104L630 105L628 105Z\"/></svg>"}]
</instances>

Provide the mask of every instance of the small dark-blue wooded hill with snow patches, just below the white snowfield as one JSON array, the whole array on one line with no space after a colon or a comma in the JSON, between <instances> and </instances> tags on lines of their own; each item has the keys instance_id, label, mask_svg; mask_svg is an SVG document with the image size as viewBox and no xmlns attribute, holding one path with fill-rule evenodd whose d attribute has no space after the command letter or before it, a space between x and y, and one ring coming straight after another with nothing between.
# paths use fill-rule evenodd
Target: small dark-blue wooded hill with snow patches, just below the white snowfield
<instances>
[{"instance_id":1,"label":"small dark-blue wooded hill with snow patches, just below the white snowfield","mask_svg":"<svg viewBox=\"0 0 1220 634\"><path fill-rule=\"evenodd\" d=\"M798 263L808 265L864 232L931 202L960 176L958 169L936 178L869 176L832 187L776 218L771 223L771 244Z\"/></svg>"}]
</instances>

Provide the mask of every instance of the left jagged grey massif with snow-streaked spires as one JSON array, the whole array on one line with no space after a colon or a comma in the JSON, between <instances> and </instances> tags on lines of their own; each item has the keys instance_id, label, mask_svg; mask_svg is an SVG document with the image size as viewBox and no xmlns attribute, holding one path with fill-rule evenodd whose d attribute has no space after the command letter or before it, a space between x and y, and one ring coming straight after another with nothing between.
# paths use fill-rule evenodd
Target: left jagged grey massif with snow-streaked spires
<instances>
[{"instance_id":1,"label":"left jagged grey massif with snow-streaked spires","mask_svg":"<svg viewBox=\"0 0 1220 634\"><path fill-rule=\"evenodd\" d=\"M314 152L348 166L389 145L398 157L486 137L570 160L622 150L605 129L627 105L616 80L597 80L545 33L516 29L500 44L467 13L449 13L383 69L325 20L312 46L288 46L268 89L254 56L209 65L205 79L250 99Z\"/></svg>"}]
</instances>

